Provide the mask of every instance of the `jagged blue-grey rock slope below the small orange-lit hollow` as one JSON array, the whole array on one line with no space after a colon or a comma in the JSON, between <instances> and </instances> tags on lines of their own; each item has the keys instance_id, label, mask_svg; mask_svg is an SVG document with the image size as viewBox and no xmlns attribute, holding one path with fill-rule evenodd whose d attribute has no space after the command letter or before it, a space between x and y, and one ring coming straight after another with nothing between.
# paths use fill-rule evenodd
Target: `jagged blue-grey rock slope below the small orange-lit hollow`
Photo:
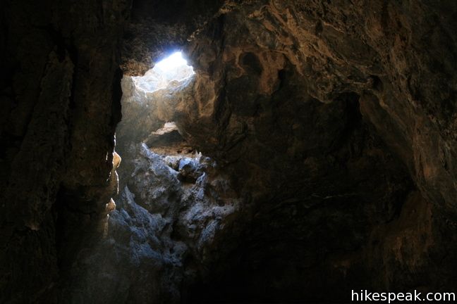
<instances>
[{"instance_id":1,"label":"jagged blue-grey rock slope below the small orange-lit hollow","mask_svg":"<svg viewBox=\"0 0 457 304\"><path fill-rule=\"evenodd\" d=\"M76 303L180 303L184 279L207 263L239 213L211 160L159 156L144 144L131 149L135 157L125 161L135 172L116 198L106 238L76 265L84 270L68 293ZM189 173L196 179L183 179Z\"/></svg>"}]
</instances>

